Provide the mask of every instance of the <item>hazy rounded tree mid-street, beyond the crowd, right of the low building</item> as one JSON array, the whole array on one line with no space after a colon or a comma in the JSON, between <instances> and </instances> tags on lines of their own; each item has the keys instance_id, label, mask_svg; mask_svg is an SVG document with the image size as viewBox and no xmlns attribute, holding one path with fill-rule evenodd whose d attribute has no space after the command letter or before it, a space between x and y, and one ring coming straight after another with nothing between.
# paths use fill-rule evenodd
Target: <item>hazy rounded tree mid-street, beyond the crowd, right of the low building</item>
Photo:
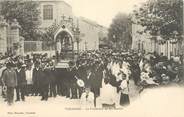
<instances>
[{"instance_id":1,"label":"hazy rounded tree mid-street, beyond the crowd, right of the low building","mask_svg":"<svg viewBox=\"0 0 184 117\"><path fill-rule=\"evenodd\" d=\"M131 18L127 14L118 13L108 30L108 38L119 49L129 49L132 44Z\"/></svg>"}]
</instances>

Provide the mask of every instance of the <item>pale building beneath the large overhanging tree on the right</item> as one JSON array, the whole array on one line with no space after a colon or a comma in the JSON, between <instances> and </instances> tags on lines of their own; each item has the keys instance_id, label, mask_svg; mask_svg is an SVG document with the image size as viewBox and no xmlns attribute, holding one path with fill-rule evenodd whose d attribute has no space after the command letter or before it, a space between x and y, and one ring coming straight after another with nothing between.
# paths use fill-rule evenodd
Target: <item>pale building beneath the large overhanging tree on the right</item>
<instances>
[{"instance_id":1,"label":"pale building beneath the large overhanging tree on the right","mask_svg":"<svg viewBox=\"0 0 184 117\"><path fill-rule=\"evenodd\" d=\"M163 53L164 56L170 58L179 55L179 42L175 40L163 41L160 35L151 36L144 33L144 27L141 25L132 24L132 49L146 53Z\"/></svg>"}]
</instances>

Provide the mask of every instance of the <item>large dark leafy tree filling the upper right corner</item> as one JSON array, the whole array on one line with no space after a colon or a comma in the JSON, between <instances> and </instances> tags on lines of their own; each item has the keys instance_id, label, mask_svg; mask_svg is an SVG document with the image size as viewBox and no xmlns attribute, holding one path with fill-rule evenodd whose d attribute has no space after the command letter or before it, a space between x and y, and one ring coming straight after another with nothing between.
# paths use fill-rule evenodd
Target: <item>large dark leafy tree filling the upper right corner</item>
<instances>
[{"instance_id":1,"label":"large dark leafy tree filling the upper right corner","mask_svg":"<svg viewBox=\"0 0 184 117\"><path fill-rule=\"evenodd\" d=\"M149 0L134 11L135 23L145 27L142 33L168 40L182 35L182 8L182 0Z\"/></svg>"}]
</instances>

